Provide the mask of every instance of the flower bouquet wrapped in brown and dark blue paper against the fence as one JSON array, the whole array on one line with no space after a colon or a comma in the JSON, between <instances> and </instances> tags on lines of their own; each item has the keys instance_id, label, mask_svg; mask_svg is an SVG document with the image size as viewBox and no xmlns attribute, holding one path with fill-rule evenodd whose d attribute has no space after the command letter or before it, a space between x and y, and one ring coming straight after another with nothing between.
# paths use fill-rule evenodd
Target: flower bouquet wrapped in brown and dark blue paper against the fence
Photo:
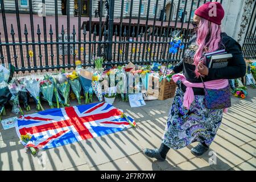
<instances>
[{"instance_id":1,"label":"flower bouquet wrapped in brown and dark blue paper against the fence","mask_svg":"<svg viewBox=\"0 0 256 182\"><path fill-rule=\"evenodd\" d=\"M93 69L81 69L80 70L80 83L82 88L84 89L84 96L85 96L85 104L92 102L92 76L93 76Z\"/></svg>"}]
</instances>

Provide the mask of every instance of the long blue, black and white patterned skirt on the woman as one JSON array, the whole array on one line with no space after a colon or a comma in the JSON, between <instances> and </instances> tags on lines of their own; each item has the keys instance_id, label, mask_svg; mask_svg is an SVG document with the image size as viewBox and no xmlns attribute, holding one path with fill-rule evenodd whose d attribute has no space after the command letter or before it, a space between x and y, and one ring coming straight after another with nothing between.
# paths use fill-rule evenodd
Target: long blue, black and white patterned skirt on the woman
<instances>
[{"instance_id":1,"label":"long blue, black and white patterned skirt on the woman","mask_svg":"<svg viewBox=\"0 0 256 182\"><path fill-rule=\"evenodd\" d=\"M204 96L195 96L189 110L183 107L184 92L177 88L162 142L180 149L193 142L213 142L221 124L223 109L207 109Z\"/></svg>"}]
</instances>

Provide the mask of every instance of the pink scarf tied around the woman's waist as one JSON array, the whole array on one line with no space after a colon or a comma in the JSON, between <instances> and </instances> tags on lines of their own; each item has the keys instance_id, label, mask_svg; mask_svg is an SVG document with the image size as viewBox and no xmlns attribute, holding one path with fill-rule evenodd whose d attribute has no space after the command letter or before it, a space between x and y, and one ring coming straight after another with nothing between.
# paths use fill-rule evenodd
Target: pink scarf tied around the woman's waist
<instances>
[{"instance_id":1,"label":"pink scarf tied around the woman's waist","mask_svg":"<svg viewBox=\"0 0 256 182\"><path fill-rule=\"evenodd\" d=\"M204 85L203 83L192 83L187 81L185 76L180 73L173 75L172 80L174 80L174 82L177 82L178 80L180 80L181 82L183 82L185 86L187 86L187 89L184 93L184 98L183 98L183 106L186 109L189 109L191 103L194 101L194 92L192 87L204 88L204 85L205 85L205 87L208 89L222 89L229 85L229 82L226 79L206 81L204 82ZM228 112L228 108L225 108L224 113L227 113L227 112Z\"/></svg>"}]
</instances>

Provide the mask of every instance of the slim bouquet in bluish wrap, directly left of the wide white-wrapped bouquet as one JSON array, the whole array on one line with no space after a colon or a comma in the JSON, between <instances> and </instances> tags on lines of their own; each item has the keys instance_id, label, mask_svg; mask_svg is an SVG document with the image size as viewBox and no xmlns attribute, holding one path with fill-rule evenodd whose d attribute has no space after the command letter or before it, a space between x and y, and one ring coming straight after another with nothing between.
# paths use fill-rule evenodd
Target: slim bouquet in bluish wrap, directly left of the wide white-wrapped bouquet
<instances>
[{"instance_id":1,"label":"slim bouquet in bluish wrap, directly left of the wide white-wrapped bouquet","mask_svg":"<svg viewBox=\"0 0 256 182\"><path fill-rule=\"evenodd\" d=\"M15 84L15 81L11 81L10 84L9 84L9 90L11 92L11 99L10 99L10 104L13 106L13 109L11 110L12 113L14 114L21 114L21 115L24 115L20 105L19 105L19 96L18 96L18 93L19 93L19 86L17 86Z\"/></svg>"}]
</instances>

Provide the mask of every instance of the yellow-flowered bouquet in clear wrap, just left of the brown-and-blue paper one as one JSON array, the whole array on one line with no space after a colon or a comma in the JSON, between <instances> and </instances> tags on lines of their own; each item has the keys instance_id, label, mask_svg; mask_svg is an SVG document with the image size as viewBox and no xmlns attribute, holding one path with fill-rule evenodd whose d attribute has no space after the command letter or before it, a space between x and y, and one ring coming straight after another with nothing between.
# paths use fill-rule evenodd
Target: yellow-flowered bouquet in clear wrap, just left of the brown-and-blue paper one
<instances>
[{"instance_id":1,"label":"yellow-flowered bouquet in clear wrap, just left of the brown-and-blue paper one","mask_svg":"<svg viewBox=\"0 0 256 182\"><path fill-rule=\"evenodd\" d=\"M81 104L81 84L79 81L79 76L77 75L76 71L73 71L71 75L67 75L68 82L71 85L71 88L73 90L73 93L75 94L78 104Z\"/></svg>"}]
</instances>

